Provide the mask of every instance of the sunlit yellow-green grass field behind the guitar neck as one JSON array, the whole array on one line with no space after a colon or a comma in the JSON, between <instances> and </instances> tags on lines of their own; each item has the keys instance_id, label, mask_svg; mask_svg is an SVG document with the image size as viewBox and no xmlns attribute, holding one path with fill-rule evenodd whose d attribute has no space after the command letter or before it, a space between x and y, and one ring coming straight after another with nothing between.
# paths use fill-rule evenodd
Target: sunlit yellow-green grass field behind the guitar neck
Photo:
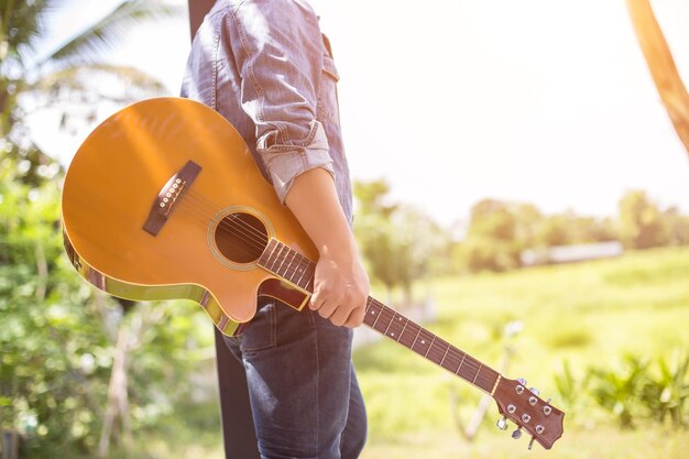
<instances>
[{"instance_id":1,"label":"sunlit yellow-green grass field behind the guitar neck","mask_svg":"<svg viewBox=\"0 0 689 459\"><path fill-rule=\"evenodd\" d=\"M370 417L363 458L687 457L689 431L658 425L619 430L600 411L562 405L554 375L565 362L579 374L591 367L620 367L627 354L654 359L689 351L689 248L440 278L419 288L428 289L437 320L425 326L496 370L504 353L502 330L522 323L504 374L526 378L542 397L553 397L567 412L565 436L551 451L527 456L528 440L515 441L510 430L494 428L499 415L491 407L478 438L467 442L453 424L450 394L459 393L459 413L468 422L481 393L385 339L360 348L354 358Z\"/></svg>"}]
</instances>

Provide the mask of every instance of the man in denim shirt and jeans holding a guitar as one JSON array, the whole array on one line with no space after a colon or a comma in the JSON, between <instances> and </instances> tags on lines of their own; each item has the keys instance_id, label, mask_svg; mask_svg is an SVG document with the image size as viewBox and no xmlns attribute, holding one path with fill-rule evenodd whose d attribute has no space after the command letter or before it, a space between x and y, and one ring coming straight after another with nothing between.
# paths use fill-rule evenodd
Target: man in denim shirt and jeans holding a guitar
<instances>
[{"instance_id":1,"label":"man in denim shirt and jeans holding a guitar","mask_svg":"<svg viewBox=\"0 0 689 459\"><path fill-rule=\"evenodd\" d=\"M218 0L197 32L182 95L226 117L319 251L309 308L262 300L228 346L247 370L262 458L357 458L365 411L351 364L369 278L327 39L306 0Z\"/></svg>"}]
</instances>

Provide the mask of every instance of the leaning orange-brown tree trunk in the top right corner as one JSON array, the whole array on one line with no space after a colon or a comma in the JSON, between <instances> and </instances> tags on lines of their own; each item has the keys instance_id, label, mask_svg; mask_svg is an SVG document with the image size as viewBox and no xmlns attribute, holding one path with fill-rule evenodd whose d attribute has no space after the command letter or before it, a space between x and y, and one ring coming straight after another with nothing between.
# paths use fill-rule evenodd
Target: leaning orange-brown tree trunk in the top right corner
<instances>
[{"instance_id":1,"label":"leaning orange-brown tree trunk in the top right corner","mask_svg":"<svg viewBox=\"0 0 689 459\"><path fill-rule=\"evenodd\" d=\"M626 0L636 37L646 58L660 99L689 155L689 95L679 77L648 0Z\"/></svg>"}]
</instances>

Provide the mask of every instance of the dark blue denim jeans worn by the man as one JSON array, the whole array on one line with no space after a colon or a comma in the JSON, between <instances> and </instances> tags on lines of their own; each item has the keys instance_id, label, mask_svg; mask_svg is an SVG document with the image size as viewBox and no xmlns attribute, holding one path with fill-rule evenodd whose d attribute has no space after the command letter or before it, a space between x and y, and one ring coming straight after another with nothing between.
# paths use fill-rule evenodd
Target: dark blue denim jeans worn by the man
<instances>
[{"instance_id":1,"label":"dark blue denim jeans worn by the man","mask_svg":"<svg viewBox=\"0 0 689 459\"><path fill-rule=\"evenodd\" d=\"M262 459L354 459L367 415L351 361L352 330L306 307L261 302L236 338L226 338L247 370Z\"/></svg>"}]
</instances>

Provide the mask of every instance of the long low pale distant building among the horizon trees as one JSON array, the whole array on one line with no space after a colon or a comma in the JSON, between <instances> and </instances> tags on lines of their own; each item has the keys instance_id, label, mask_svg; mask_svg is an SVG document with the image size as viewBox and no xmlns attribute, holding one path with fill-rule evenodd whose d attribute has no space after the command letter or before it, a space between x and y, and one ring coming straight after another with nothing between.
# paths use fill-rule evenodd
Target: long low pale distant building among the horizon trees
<instances>
[{"instance_id":1,"label":"long low pale distant building among the horizon trees","mask_svg":"<svg viewBox=\"0 0 689 459\"><path fill-rule=\"evenodd\" d=\"M612 259L622 255L624 249L617 241L590 244L555 245L544 249L524 250L520 259L522 266L575 263L587 260Z\"/></svg>"}]
</instances>

